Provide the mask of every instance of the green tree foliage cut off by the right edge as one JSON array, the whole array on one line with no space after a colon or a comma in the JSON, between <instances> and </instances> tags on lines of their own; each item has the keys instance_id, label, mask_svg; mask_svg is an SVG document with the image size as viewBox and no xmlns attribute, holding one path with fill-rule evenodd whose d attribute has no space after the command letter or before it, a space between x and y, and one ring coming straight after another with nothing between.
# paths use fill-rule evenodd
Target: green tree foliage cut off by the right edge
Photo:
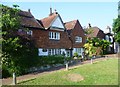
<instances>
[{"instance_id":1,"label":"green tree foliage cut off by the right edge","mask_svg":"<svg viewBox=\"0 0 120 87\"><path fill-rule=\"evenodd\" d=\"M113 21L113 32L115 33L115 40L120 43L120 16Z\"/></svg>"}]
</instances>

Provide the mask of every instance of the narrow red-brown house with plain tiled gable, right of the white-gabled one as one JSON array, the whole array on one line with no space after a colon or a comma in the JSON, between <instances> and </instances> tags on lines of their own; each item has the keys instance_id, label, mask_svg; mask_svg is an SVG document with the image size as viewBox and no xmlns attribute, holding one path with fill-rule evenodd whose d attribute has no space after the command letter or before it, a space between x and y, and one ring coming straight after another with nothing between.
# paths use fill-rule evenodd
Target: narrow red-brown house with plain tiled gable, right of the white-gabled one
<instances>
[{"instance_id":1,"label":"narrow red-brown house with plain tiled gable, right of the white-gabled one","mask_svg":"<svg viewBox=\"0 0 120 87\"><path fill-rule=\"evenodd\" d=\"M78 55L82 55L82 52L84 52L85 33L80 22L78 20L66 22L65 27L72 42L72 54L78 53Z\"/></svg>"}]
</instances>

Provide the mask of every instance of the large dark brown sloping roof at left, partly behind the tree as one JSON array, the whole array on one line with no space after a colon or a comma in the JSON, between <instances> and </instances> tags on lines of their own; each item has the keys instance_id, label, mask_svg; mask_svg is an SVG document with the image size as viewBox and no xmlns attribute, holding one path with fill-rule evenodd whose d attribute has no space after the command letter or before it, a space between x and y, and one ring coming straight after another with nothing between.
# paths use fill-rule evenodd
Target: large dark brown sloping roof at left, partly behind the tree
<instances>
[{"instance_id":1,"label":"large dark brown sloping roof at left, partly behind the tree","mask_svg":"<svg viewBox=\"0 0 120 87\"><path fill-rule=\"evenodd\" d=\"M31 12L20 11L19 15L21 16L20 23L25 27L34 27L34 28L42 28L41 24L34 18Z\"/></svg>"}]
</instances>

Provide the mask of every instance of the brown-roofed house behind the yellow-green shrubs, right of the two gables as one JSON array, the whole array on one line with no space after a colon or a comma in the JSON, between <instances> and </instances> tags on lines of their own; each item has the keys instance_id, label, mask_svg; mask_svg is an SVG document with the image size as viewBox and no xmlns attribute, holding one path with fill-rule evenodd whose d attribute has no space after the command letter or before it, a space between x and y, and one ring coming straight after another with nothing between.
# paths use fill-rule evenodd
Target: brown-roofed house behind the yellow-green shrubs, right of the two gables
<instances>
[{"instance_id":1,"label":"brown-roofed house behind the yellow-green shrubs, right of the two gables","mask_svg":"<svg viewBox=\"0 0 120 87\"><path fill-rule=\"evenodd\" d=\"M96 26L92 27L91 24L89 24L88 28L86 28L85 31L87 31L87 38L97 37L99 39L105 39L105 33Z\"/></svg>"}]
</instances>

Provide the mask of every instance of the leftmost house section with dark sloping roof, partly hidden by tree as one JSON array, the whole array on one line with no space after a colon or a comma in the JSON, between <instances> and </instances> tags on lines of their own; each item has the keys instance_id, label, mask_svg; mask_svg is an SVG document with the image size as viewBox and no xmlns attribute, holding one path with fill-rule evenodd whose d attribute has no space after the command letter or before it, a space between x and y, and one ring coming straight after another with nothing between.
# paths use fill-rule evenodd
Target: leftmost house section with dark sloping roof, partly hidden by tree
<instances>
[{"instance_id":1,"label":"leftmost house section with dark sloping roof, partly hidden by tree","mask_svg":"<svg viewBox=\"0 0 120 87\"><path fill-rule=\"evenodd\" d=\"M31 14L30 9L28 11L20 11L18 15L20 16L21 24L21 28L18 29L19 35L32 38L33 30L42 28L39 22ZM26 31L24 28L28 28L28 30Z\"/></svg>"}]
</instances>

